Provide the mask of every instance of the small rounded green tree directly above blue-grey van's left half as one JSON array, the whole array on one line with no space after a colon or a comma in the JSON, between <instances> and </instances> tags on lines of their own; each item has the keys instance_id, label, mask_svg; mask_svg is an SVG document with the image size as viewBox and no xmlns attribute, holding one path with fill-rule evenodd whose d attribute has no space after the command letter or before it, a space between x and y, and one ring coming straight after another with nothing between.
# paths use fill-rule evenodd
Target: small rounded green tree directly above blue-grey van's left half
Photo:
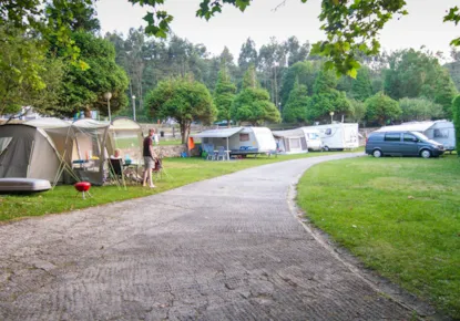
<instances>
[{"instance_id":1,"label":"small rounded green tree directly above blue-grey van's left half","mask_svg":"<svg viewBox=\"0 0 460 321\"><path fill-rule=\"evenodd\" d=\"M385 125L397 120L401 114L398 102L381 92L367 99L365 104L366 118L368 122L377 123L379 125Z\"/></svg>"}]
</instances>

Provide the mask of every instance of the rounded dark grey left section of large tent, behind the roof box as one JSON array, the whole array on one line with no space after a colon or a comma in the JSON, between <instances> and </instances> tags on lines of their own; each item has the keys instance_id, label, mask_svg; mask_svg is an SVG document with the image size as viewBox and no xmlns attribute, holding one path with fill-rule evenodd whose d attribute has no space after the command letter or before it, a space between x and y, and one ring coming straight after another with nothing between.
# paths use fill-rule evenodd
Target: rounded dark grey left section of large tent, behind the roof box
<instances>
[{"instance_id":1,"label":"rounded dark grey left section of large tent, behind the roof box","mask_svg":"<svg viewBox=\"0 0 460 321\"><path fill-rule=\"evenodd\" d=\"M42 128L27 124L0 126L0 178L61 180L57 147Z\"/></svg>"}]
</instances>

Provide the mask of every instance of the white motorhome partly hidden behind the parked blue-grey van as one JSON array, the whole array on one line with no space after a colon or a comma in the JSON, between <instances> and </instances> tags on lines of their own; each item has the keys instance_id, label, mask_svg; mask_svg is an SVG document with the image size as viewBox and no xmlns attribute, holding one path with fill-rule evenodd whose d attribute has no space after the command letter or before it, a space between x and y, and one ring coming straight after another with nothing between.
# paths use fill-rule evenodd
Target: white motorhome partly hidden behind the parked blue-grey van
<instances>
[{"instance_id":1,"label":"white motorhome partly hidden behind the parked blue-grey van","mask_svg":"<svg viewBox=\"0 0 460 321\"><path fill-rule=\"evenodd\" d=\"M410 122L401 125L385 126L377 132L409 131L422 133L430 139L444 146L446 151L456 149L456 128L449 121Z\"/></svg>"}]
</instances>

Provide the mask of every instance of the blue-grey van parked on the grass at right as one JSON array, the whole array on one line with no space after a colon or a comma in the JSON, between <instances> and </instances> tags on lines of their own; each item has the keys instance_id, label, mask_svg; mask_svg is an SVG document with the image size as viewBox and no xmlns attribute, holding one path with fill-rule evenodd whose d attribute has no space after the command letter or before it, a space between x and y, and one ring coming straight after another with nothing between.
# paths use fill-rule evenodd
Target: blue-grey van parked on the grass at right
<instances>
[{"instance_id":1,"label":"blue-grey van parked on the grass at right","mask_svg":"<svg viewBox=\"0 0 460 321\"><path fill-rule=\"evenodd\" d=\"M366 141L366 154L374 157L391 155L430 158L443 153L442 144L418 132L374 132Z\"/></svg>"}]
</instances>

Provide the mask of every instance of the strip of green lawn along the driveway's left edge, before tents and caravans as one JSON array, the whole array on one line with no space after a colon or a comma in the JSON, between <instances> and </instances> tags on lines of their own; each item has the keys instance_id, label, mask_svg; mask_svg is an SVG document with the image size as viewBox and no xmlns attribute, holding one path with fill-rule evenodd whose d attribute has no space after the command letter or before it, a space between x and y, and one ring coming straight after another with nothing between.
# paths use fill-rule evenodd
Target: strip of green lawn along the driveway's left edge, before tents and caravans
<instances>
[{"instance_id":1,"label":"strip of green lawn along the driveway's left edge, before tents and caravans","mask_svg":"<svg viewBox=\"0 0 460 321\"><path fill-rule=\"evenodd\" d=\"M308 153L278 157L248 157L232 162L209 162L202 158L166 158L164 168L170 177L155 183L157 188L149 189L142 186L127 186L127 190L120 190L116 186L92 187L94 196L83 200L75 197L73 186L58 186L54 190L33 195L0 195L0 221L28 216L58 214L90 206L96 206L116 200L149 196L171 188L183 186L202 179L207 179L248 167L283 162L300 157L330 155L334 153Z\"/></svg>"}]
</instances>

